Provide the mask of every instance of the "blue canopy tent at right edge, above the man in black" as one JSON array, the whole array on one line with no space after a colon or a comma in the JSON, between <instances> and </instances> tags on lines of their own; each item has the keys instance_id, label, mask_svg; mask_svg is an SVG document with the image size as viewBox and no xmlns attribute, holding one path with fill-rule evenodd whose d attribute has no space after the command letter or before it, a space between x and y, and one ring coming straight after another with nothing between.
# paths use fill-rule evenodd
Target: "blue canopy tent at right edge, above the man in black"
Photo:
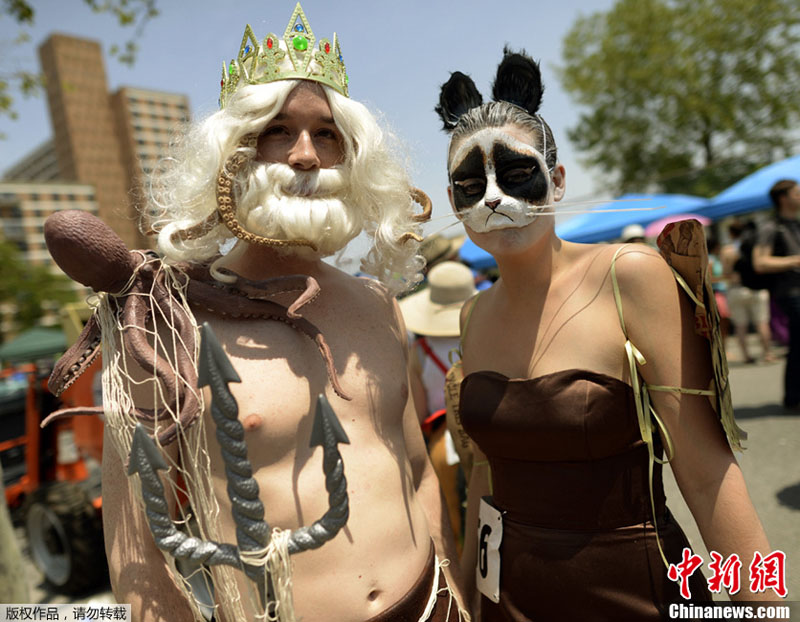
<instances>
[{"instance_id":1,"label":"blue canopy tent at right edge, above the man in black","mask_svg":"<svg viewBox=\"0 0 800 622\"><path fill-rule=\"evenodd\" d=\"M769 164L740 179L711 199L708 205L700 208L697 213L716 220L771 207L769 189L781 179L800 182L800 155Z\"/></svg>"}]
</instances>

